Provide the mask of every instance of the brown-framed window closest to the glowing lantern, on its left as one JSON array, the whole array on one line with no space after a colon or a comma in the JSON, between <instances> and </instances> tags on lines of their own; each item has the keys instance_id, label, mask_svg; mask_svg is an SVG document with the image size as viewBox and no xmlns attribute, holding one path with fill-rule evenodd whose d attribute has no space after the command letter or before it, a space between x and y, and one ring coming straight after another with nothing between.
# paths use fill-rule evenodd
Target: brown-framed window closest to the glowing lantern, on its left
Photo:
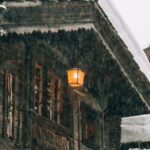
<instances>
[{"instance_id":1,"label":"brown-framed window closest to the glowing lantern, on its left","mask_svg":"<svg viewBox=\"0 0 150 150\"><path fill-rule=\"evenodd\" d=\"M47 117L60 123L60 113L62 105L61 80L50 70L47 81Z\"/></svg>"}]
</instances>

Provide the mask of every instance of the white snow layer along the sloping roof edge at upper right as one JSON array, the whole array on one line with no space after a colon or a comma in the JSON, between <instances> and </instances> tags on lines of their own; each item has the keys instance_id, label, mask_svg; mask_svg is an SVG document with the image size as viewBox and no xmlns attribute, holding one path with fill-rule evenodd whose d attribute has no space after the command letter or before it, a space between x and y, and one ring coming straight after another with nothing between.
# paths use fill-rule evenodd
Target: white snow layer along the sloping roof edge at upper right
<instances>
[{"instance_id":1,"label":"white snow layer along the sloping roof edge at upper right","mask_svg":"<svg viewBox=\"0 0 150 150\"><path fill-rule=\"evenodd\" d=\"M150 81L150 63L148 61L148 58L138 45L137 41L133 38L133 35L131 35L127 25L123 22L122 18L115 10L111 0L99 0L99 4L104 9L105 13L107 14L120 37L128 46L128 49L134 56L135 61L140 67L140 70Z\"/></svg>"}]
</instances>

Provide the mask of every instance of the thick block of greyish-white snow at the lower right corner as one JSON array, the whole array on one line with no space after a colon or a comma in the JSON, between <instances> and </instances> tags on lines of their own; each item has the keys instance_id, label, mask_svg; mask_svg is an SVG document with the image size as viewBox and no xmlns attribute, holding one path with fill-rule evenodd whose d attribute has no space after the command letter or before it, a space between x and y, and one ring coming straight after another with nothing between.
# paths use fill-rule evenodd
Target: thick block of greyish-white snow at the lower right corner
<instances>
[{"instance_id":1,"label":"thick block of greyish-white snow at the lower right corner","mask_svg":"<svg viewBox=\"0 0 150 150\"><path fill-rule=\"evenodd\" d=\"M150 115L122 118L121 143L150 141Z\"/></svg>"}]
</instances>

